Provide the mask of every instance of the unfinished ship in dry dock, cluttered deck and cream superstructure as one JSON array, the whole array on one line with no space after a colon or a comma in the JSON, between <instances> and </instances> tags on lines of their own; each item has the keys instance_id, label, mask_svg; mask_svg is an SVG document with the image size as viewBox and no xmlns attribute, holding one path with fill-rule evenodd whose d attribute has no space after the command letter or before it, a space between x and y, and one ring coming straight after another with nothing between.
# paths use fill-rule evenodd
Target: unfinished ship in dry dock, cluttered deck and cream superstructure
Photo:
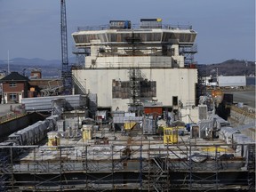
<instances>
[{"instance_id":1,"label":"unfinished ship in dry dock, cluttered deck and cream superstructure","mask_svg":"<svg viewBox=\"0 0 256 192\"><path fill-rule=\"evenodd\" d=\"M220 92L198 95L191 26L111 20L72 36L73 94L0 118L0 191L254 191L255 114L230 102L234 127L215 114Z\"/></svg>"}]
</instances>

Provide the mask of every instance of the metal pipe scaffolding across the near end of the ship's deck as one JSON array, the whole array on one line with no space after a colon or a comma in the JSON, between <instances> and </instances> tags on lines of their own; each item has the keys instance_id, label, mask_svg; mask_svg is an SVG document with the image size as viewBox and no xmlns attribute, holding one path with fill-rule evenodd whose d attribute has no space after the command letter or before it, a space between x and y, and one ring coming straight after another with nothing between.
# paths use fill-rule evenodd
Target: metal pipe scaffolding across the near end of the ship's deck
<instances>
[{"instance_id":1,"label":"metal pipe scaffolding across the near end of the ship's deck","mask_svg":"<svg viewBox=\"0 0 256 192\"><path fill-rule=\"evenodd\" d=\"M123 145L2 146L1 190L253 190L255 147L241 145L249 148L245 158L228 158L214 145L204 154L204 161L195 161L193 151L209 145L182 143L157 148L154 140L139 137ZM22 156L17 156L21 151Z\"/></svg>"}]
</instances>

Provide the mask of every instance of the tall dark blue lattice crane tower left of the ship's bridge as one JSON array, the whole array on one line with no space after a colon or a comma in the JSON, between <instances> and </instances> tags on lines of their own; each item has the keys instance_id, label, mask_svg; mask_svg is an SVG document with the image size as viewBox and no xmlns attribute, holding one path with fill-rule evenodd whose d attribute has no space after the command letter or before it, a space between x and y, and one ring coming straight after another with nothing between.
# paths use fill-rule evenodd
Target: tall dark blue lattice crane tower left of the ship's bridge
<instances>
[{"instance_id":1,"label":"tall dark blue lattice crane tower left of the ship's bridge","mask_svg":"<svg viewBox=\"0 0 256 192\"><path fill-rule=\"evenodd\" d=\"M63 83L63 94L72 93L72 74L68 65L68 37L65 0L60 0L60 34L61 34L61 78Z\"/></svg>"}]
</instances>

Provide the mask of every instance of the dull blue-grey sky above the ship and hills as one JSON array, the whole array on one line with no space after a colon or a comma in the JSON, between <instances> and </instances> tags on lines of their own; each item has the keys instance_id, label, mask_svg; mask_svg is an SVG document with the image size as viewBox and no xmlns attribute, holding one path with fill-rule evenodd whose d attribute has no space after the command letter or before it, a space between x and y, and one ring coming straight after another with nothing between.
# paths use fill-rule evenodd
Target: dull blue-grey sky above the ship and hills
<instances>
[{"instance_id":1,"label":"dull blue-grey sky above the ship and hills","mask_svg":"<svg viewBox=\"0 0 256 192\"><path fill-rule=\"evenodd\" d=\"M192 25L198 63L255 60L255 0L66 0L68 55L80 26L162 18ZM0 0L0 60L60 60L60 0Z\"/></svg>"}]
</instances>

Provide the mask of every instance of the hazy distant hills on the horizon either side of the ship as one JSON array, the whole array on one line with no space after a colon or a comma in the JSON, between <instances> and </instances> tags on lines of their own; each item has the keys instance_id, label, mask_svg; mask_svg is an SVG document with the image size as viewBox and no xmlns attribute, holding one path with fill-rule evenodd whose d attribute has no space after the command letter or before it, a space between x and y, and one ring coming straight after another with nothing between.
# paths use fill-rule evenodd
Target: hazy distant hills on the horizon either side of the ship
<instances>
[{"instance_id":1,"label":"hazy distant hills on the horizon either side of the ship","mask_svg":"<svg viewBox=\"0 0 256 192\"><path fill-rule=\"evenodd\" d=\"M69 58L69 63L75 63L75 57ZM14 58L9 60L10 71L17 71L20 74L29 76L30 69L41 68L44 78L60 77L60 60L42 60ZM6 60L0 60L0 72L7 71ZM226 60L221 63L198 65L200 76L255 76L255 63L246 60Z\"/></svg>"}]
</instances>

